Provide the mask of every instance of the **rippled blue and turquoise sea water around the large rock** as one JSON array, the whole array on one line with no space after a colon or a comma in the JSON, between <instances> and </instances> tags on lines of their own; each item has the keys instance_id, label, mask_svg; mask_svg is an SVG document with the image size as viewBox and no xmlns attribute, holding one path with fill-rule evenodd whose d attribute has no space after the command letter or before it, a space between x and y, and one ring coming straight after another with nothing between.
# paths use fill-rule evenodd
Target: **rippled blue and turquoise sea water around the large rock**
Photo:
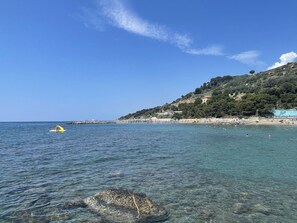
<instances>
[{"instance_id":1,"label":"rippled blue and turquoise sea water around the large rock","mask_svg":"<svg viewBox=\"0 0 297 223\"><path fill-rule=\"evenodd\" d=\"M67 203L143 192L167 222L297 222L297 128L0 123L0 222L100 222Z\"/></svg>"}]
</instances>

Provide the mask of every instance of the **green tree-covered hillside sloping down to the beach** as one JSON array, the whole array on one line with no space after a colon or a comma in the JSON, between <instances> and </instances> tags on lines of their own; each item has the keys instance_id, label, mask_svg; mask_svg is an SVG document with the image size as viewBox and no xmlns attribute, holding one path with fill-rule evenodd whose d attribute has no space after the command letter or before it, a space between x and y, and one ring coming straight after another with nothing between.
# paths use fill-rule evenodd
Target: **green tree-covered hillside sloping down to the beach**
<instances>
[{"instance_id":1,"label":"green tree-covered hillside sloping down to the beach","mask_svg":"<svg viewBox=\"0 0 297 223\"><path fill-rule=\"evenodd\" d=\"M269 117L272 109L297 107L297 63L265 72L212 78L170 104L143 109L120 119Z\"/></svg>"}]
</instances>

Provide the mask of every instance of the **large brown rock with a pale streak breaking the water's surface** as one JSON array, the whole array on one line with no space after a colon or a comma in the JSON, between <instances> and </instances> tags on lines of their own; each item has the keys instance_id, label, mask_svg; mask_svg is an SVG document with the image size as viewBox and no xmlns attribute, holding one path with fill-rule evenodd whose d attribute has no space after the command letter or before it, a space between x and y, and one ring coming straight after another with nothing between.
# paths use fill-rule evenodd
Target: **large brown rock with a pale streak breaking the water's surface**
<instances>
[{"instance_id":1,"label":"large brown rock with a pale streak breaking the water's surface","mask_svg":"<svg viewBox=\"0 0 297 223\"><path fill-rule=\"evenodd\" d=\"M83 200L84 204L109 223L152 223L168 219L165 208L145 194L108 189Z\"/></svg>"}]
</instances>

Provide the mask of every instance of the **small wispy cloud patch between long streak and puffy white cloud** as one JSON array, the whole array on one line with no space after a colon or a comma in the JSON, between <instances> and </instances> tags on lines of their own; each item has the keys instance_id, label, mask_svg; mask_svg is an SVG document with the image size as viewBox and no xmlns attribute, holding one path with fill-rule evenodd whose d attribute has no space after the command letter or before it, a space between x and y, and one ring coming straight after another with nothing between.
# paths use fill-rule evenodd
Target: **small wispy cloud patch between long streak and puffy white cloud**
<instances>
[{"instance_id":1,"label":"small wispy cloud patch between long streak and puffy white cloud","mask_svg":"<svg viewBox=\"0 0 297 223\"><path fill-rule=\"evenodd\" d=\"M258 59L259 56L260 56L260 53L258 51L250 50L250 51L245 51L239 54L229 56L228 58L231 60L239 61L247 65L251 65L251 66L263 65L264 62Z\"/></svg>"}]
</instances>

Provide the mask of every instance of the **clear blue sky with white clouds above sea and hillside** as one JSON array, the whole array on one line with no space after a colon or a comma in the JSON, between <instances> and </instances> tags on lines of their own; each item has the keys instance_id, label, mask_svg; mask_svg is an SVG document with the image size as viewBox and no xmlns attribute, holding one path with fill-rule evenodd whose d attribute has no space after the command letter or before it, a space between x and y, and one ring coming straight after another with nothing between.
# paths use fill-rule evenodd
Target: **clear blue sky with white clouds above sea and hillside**
<instances>
[{"instance_id":1,"label":"clear blue sky with white clouds above sea and hillside","mask_svg":"<svg viewBox=\"0 0 297 223\"><path fill-rule=\"evenodd\" d=\"M0 121L114 120L297 61L296 0L0 0Z\"/></svg>"}]
</instances>

